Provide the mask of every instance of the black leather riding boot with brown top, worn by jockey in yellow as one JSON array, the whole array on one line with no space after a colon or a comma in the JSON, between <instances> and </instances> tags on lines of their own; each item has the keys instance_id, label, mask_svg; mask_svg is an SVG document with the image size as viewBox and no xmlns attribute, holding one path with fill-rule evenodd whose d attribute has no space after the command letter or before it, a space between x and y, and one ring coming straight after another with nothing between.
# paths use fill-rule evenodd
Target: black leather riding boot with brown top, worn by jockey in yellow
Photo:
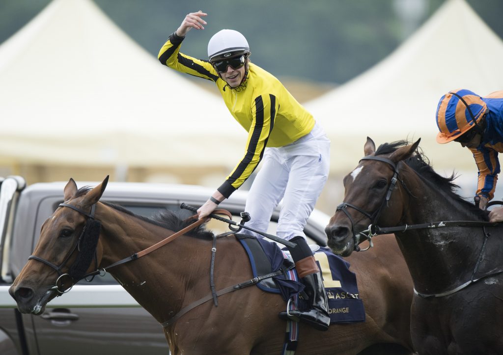
<instances>
[{"instance_id":1,"label":"black leather riding boot with brown top, worn by jockey in yellow","mask_svg":"<svg viewBox=\"0 0 503 355\"><path fill-rule=\"evenodd\" d=\"M304 292L308 300L308 309L292 310L280 313L282 319L292 319L294 321L302 321L313 326L317 330L325 331L330 324L330 317L328 315L328 301L326 298L325 288L323 287L323 280L318 265L314 260L314 256L308 256L295 263L299 281L305 286Z\"/></svg>"}]
</instances>

